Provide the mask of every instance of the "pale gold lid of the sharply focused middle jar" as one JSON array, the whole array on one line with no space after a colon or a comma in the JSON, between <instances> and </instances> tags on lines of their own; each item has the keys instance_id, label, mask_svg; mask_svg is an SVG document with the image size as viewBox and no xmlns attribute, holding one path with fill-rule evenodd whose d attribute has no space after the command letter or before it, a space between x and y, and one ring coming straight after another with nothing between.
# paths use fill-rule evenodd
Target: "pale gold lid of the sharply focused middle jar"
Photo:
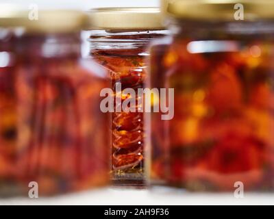
<instances>
[{"instance_id":1,"label":"pale gold lid of the sharply focused middle jar","mask_svg":"<svg viewBox=\"0 0 274 219\"><path fill-rule=\"evenodd\" d=\"M89 29L164 29L160 8L95 8Z\"/></svg>"}]
</instances>

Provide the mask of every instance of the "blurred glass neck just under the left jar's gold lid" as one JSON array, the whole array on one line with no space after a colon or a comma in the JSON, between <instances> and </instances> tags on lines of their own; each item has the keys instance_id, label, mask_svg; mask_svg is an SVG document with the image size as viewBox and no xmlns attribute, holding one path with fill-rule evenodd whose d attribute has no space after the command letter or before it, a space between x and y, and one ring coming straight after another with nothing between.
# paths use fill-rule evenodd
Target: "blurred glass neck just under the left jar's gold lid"
<instances>
[{"instance_id":1,"label":"blurred glass neck just under the left jar's gold lid","mask_svg":"<svg viewBox=\"0 0 274 219\"><path fill-rule=\"evenodd\" d=\"M23 35L16 39L16 53L28 57L79 57L80 34Z\"/></svg>"}]
</instances>

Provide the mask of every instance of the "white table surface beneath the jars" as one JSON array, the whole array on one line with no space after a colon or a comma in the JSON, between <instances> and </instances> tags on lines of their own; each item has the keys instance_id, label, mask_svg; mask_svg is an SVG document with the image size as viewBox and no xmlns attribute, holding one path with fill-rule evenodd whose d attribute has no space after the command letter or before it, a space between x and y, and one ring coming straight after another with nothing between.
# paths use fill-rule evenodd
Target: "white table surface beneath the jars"
<instances>
[{"instance_id":1,"label":"white table surface beneath the jars","mask_svg":"<svg viewBox=\"0 0 274 219\"><path fill-rule=\"evenodd\" d=\"M102 188L48 198L1 198L0 205L274 205L274 194L190 193L154 188L132 190Z\"/></svg>"}]
</instances>

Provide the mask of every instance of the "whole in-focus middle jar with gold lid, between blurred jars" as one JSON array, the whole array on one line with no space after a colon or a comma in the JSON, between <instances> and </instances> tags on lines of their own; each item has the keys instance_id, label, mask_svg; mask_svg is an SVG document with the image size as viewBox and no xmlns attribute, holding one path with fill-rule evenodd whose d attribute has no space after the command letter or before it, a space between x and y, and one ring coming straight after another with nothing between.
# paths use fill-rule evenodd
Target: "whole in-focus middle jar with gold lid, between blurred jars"
<instances>
[{"instance_id":1,"label":"whole in-focus middle jar with gold lid, between blurred jars","mask_svg":"<svg viewBox=\"0 0 274 219\"><path fill-rule=\"evenodd\" d=\"M101 8L90 11L90 42L92 57L108 70L114 91L114 106L119 98L116 90L144 87L147 77L148 44L166 31L161 24L158 8ZM130 96L121 96L121 104ZM136 101L137 101L136 96ZM144 114L138 112L112 113L112 179L114 185L143 186L144 174Z\"/></svg>"}]
</instances>

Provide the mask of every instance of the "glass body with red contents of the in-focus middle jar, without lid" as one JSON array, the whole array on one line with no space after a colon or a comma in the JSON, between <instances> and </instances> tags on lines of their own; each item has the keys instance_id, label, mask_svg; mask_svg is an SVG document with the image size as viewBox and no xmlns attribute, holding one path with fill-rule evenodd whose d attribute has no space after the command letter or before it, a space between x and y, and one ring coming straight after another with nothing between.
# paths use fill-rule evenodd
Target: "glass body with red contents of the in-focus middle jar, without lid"
<instances>
[{"instance_id":1,"label":"glass body with red contents of the in-focus middle jar, without lid","mask_svg":"<svg viewBox=\"0 0 274 219\"><path fill-rule=\"evenodd\" d=\"M153 34L145 31L143 34L129 34L127 32L115 35L107 32L105 36L91 36L91 41L105 38L109 40L110 49L93 46L91 50L92 57L97 60L105 69L108 70L110 77L110 87L114 91L114 97L121 94L116 93L116 84L121 83L121 90L132 88L138 92L138 88L144 88L147 78L147 44L153 38L159 38L162 34ZM123 45L115 40L125 40L130 43L129 46ZM138 40L140 42L138 42ZM99 43L98 43L99 44ZM131 96L121 95L121 101L114 101L116 104L123 104ZM136 103L138 96L136 95ZM142 107L136 105L136 108ZM144 178L144 114L143 112L113 112L112 120L112 171L114 178L120 181L127 181L129 184L142 184ZM139 182L137 182L139 181Z\"/></svg>"}]
</instances>

